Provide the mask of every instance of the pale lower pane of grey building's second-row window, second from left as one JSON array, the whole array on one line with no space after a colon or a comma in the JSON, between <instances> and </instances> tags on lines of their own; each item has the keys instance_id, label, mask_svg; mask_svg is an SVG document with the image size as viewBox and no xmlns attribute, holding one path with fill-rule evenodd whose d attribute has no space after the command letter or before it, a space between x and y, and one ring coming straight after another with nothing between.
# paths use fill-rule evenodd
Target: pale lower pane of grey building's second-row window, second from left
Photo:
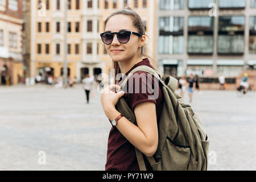
<instances>
[{"instance_id":1,"label":"pale lower pane of grey building's second-row window, second from left","mask_svg":"<svg viewBox=\"0 0 256 182\"><path fill-rule=\"evenodd\" d=\"M189 35L188 53L210 54L213 52L213 36L210 35Z\"/></svg>"}]
</instances>

